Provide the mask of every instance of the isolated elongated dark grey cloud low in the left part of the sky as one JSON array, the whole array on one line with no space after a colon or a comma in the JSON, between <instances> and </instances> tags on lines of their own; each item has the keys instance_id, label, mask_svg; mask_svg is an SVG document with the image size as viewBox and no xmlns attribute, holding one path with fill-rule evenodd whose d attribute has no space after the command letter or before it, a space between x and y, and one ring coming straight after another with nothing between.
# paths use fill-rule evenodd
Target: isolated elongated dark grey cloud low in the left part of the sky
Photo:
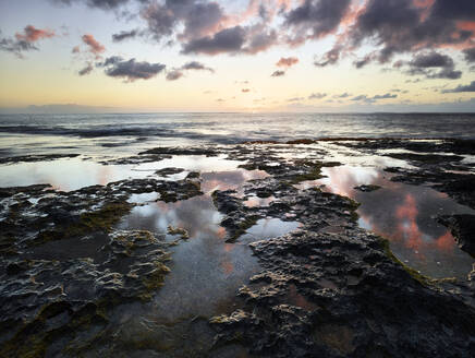
<instances>
[{"instance_id":1,"label":"isolated elongated dark grey cloud low in the left part of the sky","mask_svg":"<svg viewBox=\"0 0 475 358\"><path fill-rule=\"evenodd\" d=\"M108 76L123 77L126 82L149 80L166 69L162 63L136 62L135 59L123 60L118 56L107 58L103 62L97 63L97 67L105 68Z\"/></svg>"}]
</instances>

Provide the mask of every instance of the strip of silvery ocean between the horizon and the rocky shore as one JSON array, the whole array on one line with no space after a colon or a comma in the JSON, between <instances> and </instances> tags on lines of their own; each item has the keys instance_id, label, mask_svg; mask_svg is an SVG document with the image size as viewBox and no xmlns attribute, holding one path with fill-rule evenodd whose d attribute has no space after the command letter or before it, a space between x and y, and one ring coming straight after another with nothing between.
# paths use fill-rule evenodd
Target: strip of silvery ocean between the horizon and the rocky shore
<instances>
[{"instance_id":1,"label":"strip of silvery ocean between the horizon and the rocky shore","mask_svg":"<svg viewBox=\"0 0 475 358\"><path fill-rule=\"evenodd\" d=\"M475 114L0 115L0 156L307 138L475 139Z\"/></svg>"}]
</instances>

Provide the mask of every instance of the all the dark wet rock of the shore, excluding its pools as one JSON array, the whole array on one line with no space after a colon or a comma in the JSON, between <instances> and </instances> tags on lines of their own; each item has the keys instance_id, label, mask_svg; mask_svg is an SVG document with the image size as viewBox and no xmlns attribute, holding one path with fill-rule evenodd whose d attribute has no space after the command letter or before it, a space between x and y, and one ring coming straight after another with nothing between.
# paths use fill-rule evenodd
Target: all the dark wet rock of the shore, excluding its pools
<instances>
[{"instance_id":1,"label":"all the dark wet rock of the shore, excluding its pools","mask_svg":"<svg viewBox=\"0 0 475 358\"><path fill-rule=\"evenodd\" d=\"M473 164L465 160L475 154L471 141L325 143L356 151L355 157L405 160L411 167L386 168L390 180L431 186L475 205ZM394 150L414 153L387 152ZM141 205L131 202L131 195L157 193L154 198L162 203L203 195L207 176L199 171L183 180L159 180L184 171L168 167L154 170L156 177L71 192L47 183L0 188L0 356L126 351L137 357L471 357L475 271L465 282L421 275L401 263L385 239L358 227L358 203L318 187L301 187L322 178L324 168L341 165L327 146L302 140L158 147L107 164L155 163L180 155L222 156L242 162L240 169L269 175L211 194L222 215L222 244L251 242L261 266L236 293L242 307L167 327L142 319L117 322L111 314L121 307L130 309L129 303L149 301L172 267L171 244L182 244L167 241L167 232L119 230L121 218ZM249 205L251 199L266 201ZM247 232L261 219L300 226L281 237L253 240ZM473 254L473 216L439 219ZM167 231L181 242L193 241L181 227L169 226ZM190 335L183 338L186 344L168 344L183 332ZM126 339L120 341L123 336Z\"/></svg>"}]
</instances>

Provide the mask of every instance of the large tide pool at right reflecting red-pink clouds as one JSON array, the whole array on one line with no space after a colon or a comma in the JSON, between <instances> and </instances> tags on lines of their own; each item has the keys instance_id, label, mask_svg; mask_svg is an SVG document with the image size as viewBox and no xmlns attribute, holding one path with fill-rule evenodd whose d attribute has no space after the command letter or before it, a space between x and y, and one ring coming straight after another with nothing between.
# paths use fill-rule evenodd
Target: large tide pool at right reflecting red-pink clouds
<instances>
[{"instance_id":1,"label":"large tide pool at right reflecting red-pink clouds","mask_svg":"<svg viewBox=\"0 0 475 358\"><path fill-rule=\"evenodd\" d=\"M459 205L446 194L426 187L388 180L375 168L324 168L327 178L303 183L301 188L324 186L322 190L350 196L362 205L360 226L388 238L395 255L434 277L466 279L473 259L461 251L450 231L438 224L438 215L475 212ZM376 184L382 189L361 192L355 187Z\"/></svg>"}]
</instances>

